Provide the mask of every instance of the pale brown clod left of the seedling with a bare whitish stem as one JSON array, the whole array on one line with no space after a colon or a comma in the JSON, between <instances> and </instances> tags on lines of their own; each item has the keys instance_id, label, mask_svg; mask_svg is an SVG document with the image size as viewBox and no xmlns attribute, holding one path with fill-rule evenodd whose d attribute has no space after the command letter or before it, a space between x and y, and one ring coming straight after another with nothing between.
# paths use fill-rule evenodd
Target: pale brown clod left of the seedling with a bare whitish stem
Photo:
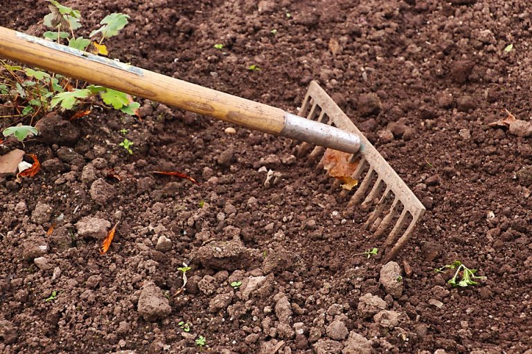
<instances>
[{"instance_id":1,"label":"pale brown clod left of the seedling with a bare whitish stem","mask_svg":"<svg viewBox=\"0 0 532 354\"><path fill-rule=\"evenodd\" d=\"M164 319L172 312L172 308L168 304L168 299L164 297L163 291L152 281L144 284L137 308L139 315L149 322Z\"/></svg>"}]
</instances>

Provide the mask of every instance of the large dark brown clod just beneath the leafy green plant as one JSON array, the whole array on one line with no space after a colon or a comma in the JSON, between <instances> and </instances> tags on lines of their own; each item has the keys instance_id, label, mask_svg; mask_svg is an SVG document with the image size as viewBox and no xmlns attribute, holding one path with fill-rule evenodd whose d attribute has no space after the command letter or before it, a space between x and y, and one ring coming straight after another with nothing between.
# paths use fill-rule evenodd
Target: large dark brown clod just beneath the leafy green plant
<instances>
[{"instance_id":1,"label":"large dark brown clod just beneath the leafy green plant","mask_svg":"<svg viewBox=\"0 0 532 354\"><path fill-rule=\"evenodd\" d=\"M55 112L48 113L35 124L39 131L37 136L45 144L67 145L76 144L80 138L80 130L68 120L64 120Z\"/></svg>"}]
</instances>

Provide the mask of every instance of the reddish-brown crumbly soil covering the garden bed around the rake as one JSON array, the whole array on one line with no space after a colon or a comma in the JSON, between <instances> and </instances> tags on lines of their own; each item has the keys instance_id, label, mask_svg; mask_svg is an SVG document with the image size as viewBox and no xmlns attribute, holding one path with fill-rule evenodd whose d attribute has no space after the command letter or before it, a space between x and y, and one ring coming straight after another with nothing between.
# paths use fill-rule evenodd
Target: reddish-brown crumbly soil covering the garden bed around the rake
<instances>
[{"instance_id":1,"label":"reddish-brown crumbly soil covering the garden bed around the rake","mask_svg":"<svg viewBox=\"0 0 532 354\"><path fill-rule=\"evenodd\" d=\"M61 122L2 147L43 165L0 178L2 353L531 353L532 148L486 125L531 115L529 1L64 4L85 37L130 15L108 44L122 62L293 113L317 80L427 212L384 267L355 255L378 246L364 213L290 140L145 100L142 120ZM10 0L0 25L41 35L47 12ZM434 268L455 260L487 279L452 288Z\"/></svg>"}]
</instances>

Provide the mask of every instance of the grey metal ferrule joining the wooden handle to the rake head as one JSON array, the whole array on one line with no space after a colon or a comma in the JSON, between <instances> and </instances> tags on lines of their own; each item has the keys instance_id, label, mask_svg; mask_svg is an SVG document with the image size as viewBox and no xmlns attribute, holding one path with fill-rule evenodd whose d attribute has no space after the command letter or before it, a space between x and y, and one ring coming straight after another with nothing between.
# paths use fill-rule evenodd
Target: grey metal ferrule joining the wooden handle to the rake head
<instances>
[{"instance_id":1,"label":"grey metal ferrule joining the wooden handle to the rake head","mask_svg":"<svg viewBox=\"0 0 532 354\"><path fill-rule=\"evenodd\" d=\"M357 153L360 149L360 138L357 134L288 112L285 127L279 135L347 153Z\"/></svg>"}]
</instances>

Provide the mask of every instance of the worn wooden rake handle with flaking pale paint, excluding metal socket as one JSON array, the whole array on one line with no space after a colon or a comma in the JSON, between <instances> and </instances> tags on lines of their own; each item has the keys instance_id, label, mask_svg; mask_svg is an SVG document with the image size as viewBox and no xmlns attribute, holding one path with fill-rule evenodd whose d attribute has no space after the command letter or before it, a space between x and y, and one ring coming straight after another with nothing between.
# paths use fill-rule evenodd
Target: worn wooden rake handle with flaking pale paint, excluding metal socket
<instances>
[{"instance_id":1,"label":"worn wooden rake handle with flaking pale paint, excluding metal socket","mask_svg":"<svg viewBox=\"0 0 532 354\"><path fill-rule=\"evenodd\" d=\"M148 100L278 135L285 111L0 27L0 55Z\"/></svg>"}]
</instances>

